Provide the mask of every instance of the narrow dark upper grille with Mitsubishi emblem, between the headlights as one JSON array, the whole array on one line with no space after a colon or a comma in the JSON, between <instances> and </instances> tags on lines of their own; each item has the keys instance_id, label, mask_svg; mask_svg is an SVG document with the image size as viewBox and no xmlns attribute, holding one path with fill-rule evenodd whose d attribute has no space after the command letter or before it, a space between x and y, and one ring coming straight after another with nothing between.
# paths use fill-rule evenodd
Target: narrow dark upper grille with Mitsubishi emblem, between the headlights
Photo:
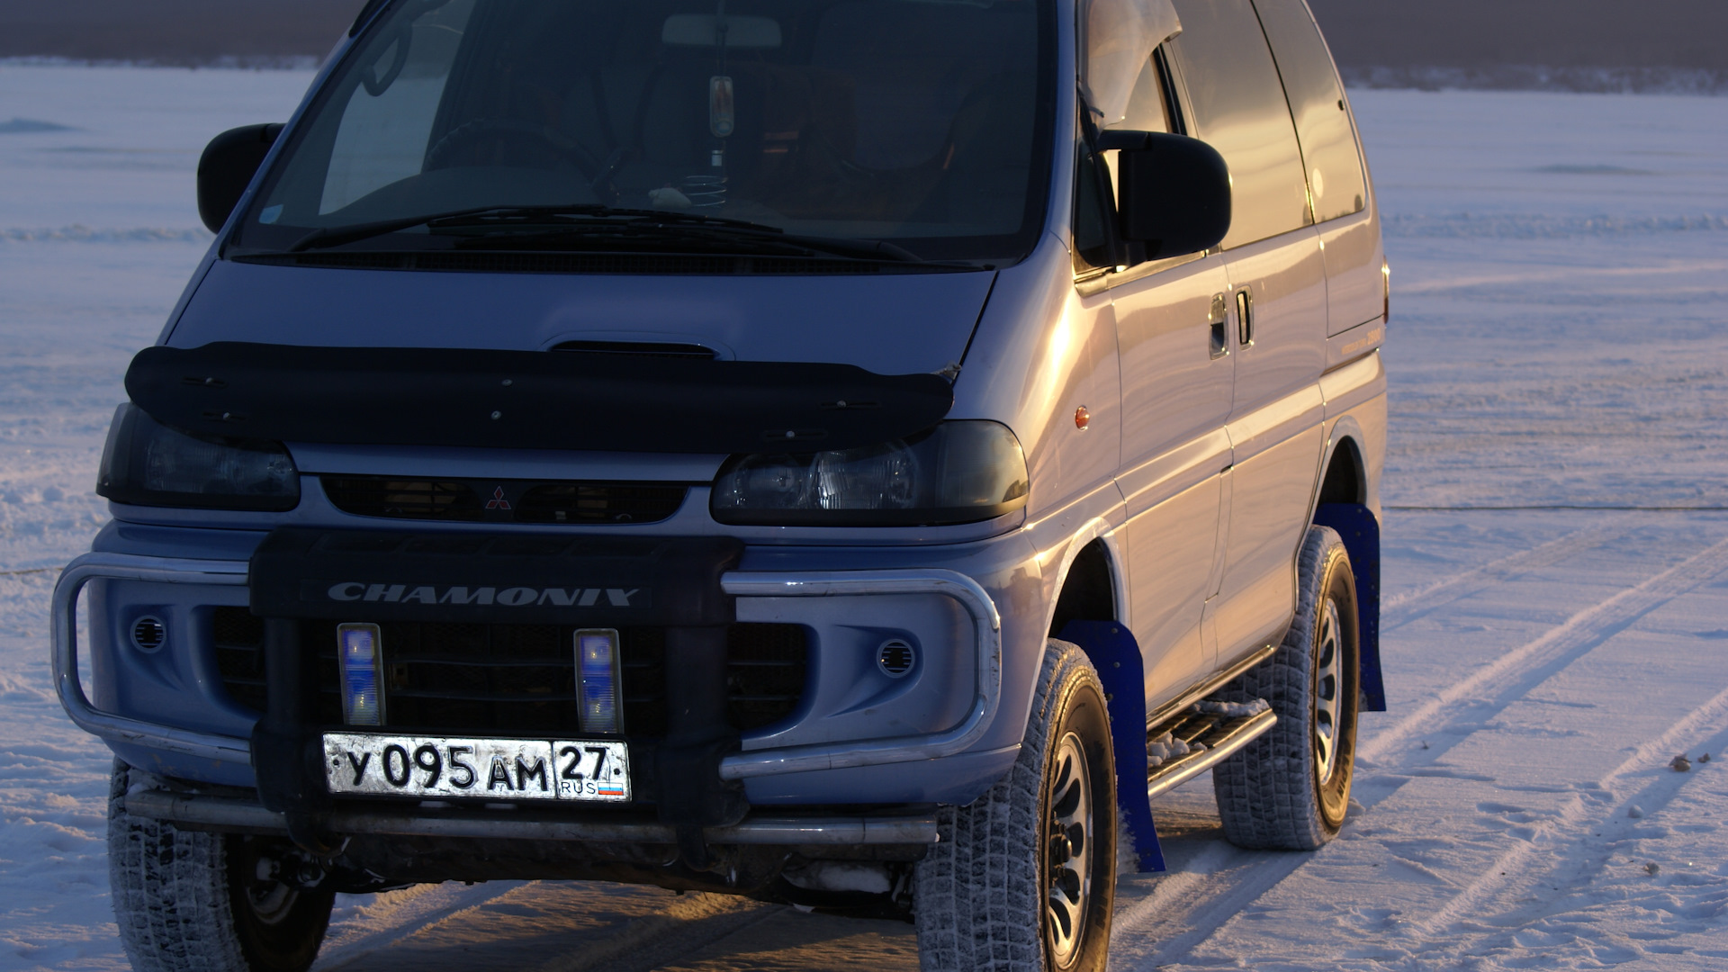
<instances>
[{"instance_id":1,"label":"narrow dark upper grille with Mitsubishi emblem, between the headlights","mask_svg":"<svg viewBox=\"0 0 1728 972\"><path fill-rule=\"evenodd\" d=\"M530 483L320 477L330 505L358 517L446 522L643 524L670 519L689 488L669 483Z\"/></svg>"}]
</instances>

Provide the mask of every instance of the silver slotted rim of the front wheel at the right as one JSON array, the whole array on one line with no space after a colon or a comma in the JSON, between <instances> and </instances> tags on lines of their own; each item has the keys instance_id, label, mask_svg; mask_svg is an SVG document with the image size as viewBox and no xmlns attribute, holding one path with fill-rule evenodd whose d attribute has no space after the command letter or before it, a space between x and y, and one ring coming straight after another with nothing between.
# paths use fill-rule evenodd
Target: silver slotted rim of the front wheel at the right
<instances>
[{"instance_id":1,"label":"silver slotted rim of the front wheel at the right","mask_svg":"<svg viewBox=\"0 0 1728 972\"><path fill-rule=\"evenodd\" d=\"M1070 965L1085 937L1092 905L1092 775L1080 737L1056 744L1045 842L1045 939L1058 969Z\"/></svg>"}]
</instances>

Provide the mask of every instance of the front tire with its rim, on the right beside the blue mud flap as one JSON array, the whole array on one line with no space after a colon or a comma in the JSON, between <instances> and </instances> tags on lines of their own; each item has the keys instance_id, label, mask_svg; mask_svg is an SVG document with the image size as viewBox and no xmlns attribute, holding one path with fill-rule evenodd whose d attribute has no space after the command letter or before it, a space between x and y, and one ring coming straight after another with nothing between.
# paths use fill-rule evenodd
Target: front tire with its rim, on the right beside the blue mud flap
<instances>
[{"instance_id":1,"label":"front tire with its rim, on the right beside the blue mud flap","mask_svg":"<svg viewBox=\"0 0 1728 972\"><path fill-rule=\"evenodd\" d=\"M924 972L1106 969L1116 768L1085 652L1049 643L1013 771L938 820L912 891Z\"/></svg>"}]
</instances>

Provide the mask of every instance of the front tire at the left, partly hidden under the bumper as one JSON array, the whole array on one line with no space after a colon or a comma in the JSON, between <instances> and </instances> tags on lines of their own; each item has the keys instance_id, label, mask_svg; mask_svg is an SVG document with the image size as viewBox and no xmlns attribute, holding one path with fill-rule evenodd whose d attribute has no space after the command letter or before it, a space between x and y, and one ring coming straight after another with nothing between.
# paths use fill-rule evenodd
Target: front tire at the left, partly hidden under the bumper
<instances>
[{"instance_id":1,"label":"front tire at the left, partly hidden under the bumper","mask_svg":"<svg viewBox=\"0 0 1728 972\"><path fill-rule=\"evenodd\" d=\"M126 813L131 768L109 782L109 882L121 944L138 972L306 972L335 894L268 872L287 844L178 830ZM266 877L259 877L266 873Z\"/></svg>"}]
</instances>

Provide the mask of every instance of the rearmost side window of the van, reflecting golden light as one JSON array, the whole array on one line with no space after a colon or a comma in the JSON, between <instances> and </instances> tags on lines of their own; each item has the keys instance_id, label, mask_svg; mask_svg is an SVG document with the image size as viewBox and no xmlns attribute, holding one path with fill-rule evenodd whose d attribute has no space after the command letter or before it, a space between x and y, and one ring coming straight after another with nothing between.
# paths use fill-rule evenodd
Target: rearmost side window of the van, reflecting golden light
<instances>
[{"instance_id":1,"label":"rearmost side window of the van, reflecting golden light","mask_svg":"<svg viewBox=\"0 0 1728 972\"><path fill-rule=\"evenodd\" d=\"M1344 111L1344 90L1320 28L1303 0L1255 0L1284 76L1317 221L1360 213L1367 201L1362 154Z\"/></svg>"}]
</instances>

